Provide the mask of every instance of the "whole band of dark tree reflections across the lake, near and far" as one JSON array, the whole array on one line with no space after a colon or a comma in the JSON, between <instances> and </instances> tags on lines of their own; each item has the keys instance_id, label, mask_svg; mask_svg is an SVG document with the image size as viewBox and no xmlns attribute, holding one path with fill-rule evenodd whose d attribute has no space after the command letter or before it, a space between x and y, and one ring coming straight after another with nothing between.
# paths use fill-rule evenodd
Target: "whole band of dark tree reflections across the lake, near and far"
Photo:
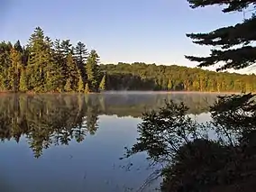
<instances>
[{"instance_id":1,"label":"whole band of dark tree reflections across the lake, near and far","mask_svg":"<svg viewBox=\"0 0 256 192\"><path fill-rule=\"evenodd\" d=\"M0 140L24 136L39 158L51 145L82 142L98 129L98 115L139 117L145 109L164 105L174 97L190 106L190 113L207 112L215 95L105 94L105 95L3 95L0 99Z\"/></svg>"}]
</instances>

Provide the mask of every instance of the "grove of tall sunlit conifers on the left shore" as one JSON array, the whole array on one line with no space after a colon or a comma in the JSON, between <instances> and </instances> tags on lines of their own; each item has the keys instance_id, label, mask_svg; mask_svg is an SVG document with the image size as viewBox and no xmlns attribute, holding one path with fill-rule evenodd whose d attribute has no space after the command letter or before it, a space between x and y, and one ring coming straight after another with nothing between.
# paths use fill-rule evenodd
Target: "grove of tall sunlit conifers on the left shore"
<instances>
[{"instance_id":1,"label":"grove of tall sunlit conifers on the left shore","mask_svg":"<svg viewBox=\"0 0 256 192\"><path fill-rule=\"evenodd\" d=\"M40 27L28 44L0 43L0 90L14 92L97 92L105 87L96 50L79 41L51 41Z\"/></svg>"}]
</instances>

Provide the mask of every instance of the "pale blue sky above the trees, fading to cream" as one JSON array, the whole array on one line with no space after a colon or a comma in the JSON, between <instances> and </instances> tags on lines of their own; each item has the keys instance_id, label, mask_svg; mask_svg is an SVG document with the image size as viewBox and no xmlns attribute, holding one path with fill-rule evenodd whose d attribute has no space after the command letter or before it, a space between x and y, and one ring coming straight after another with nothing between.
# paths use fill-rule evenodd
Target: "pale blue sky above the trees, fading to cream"
<instances>
[{"instance_id":1,"label":"pale blue sky above the trees, fading to cream","mask_svg":"<svg viewBox=\"0 0 256 192\"><path fill-rule=\"evenodd\" d=\"M0 0L0 41L26 43L36 26L52 40L83 41L102 63L146 62L197 66L184 55L208 47L186 37L242 22L220 7L191 9L187 0ZM245 69L246 70L246 69Z\"/></svg>"}]
</instances>

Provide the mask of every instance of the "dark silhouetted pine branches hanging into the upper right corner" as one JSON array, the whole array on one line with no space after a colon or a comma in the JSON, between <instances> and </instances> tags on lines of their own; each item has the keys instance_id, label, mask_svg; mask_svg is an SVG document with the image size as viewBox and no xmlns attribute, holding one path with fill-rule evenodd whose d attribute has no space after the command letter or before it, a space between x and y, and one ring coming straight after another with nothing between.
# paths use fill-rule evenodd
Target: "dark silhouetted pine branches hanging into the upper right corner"
<instances>
[{"instance_id":1,"label":"dark silhouetted pine branches hanging into the upper right corner","mask_svg":"<svg viewBox=\"0 0 256 192\"><path fill-rule=\"evenodd\" d=\"M205 7L207 5L224 5L224 13L241 12L248 7L256 7L255 1L233 0L233 1L214 1L214 0L187 0L192 8ZM242 23L234 26L227 26L216 29L213 32L190 33L187 37L191 38L198 45L214 46L208 57L186 56L191 61L199 62L199 67L207 67L224 62L224 65L217 70L224 69L244 69L253 65L256 61L256 16L251 14L249 19L244 19ZM236 48L234 48L236 46Z\"/></svg>"}]
</instances>

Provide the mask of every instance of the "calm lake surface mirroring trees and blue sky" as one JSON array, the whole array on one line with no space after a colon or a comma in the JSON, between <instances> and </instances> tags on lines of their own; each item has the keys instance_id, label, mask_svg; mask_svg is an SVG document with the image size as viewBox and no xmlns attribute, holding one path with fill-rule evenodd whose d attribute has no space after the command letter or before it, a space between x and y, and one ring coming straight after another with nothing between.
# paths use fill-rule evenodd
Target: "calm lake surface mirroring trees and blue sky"
<instances>
[{"instance_id":1,"label":"calm lake surface mirroring trees and blue sky","mask_svg":"<svg viewBox=\"0 0 256 192\"><path fill-rule=\"evenodd\" d=\"M173 99L206 121L215 98L180 93L0 96L1 192L136 191L152 171L146 154L119 158L123 147L136 141L142 112Z\"/></svg>"}]
</instances>

